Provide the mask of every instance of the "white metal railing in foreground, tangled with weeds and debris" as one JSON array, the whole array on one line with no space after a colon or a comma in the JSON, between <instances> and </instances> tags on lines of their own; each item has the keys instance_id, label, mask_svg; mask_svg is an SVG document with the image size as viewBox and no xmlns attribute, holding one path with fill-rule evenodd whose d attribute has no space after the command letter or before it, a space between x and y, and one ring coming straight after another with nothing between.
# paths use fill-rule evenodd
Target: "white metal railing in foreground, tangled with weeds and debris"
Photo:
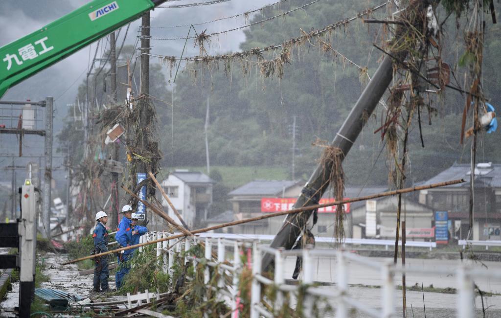
<instances>
[{"instance_id":1,"label":"white metal railing in foreground, tangled with weeds and debris","mask_svg":"<svg viewBox=\"0 0 501 318\"><path fill-rule=\"evenodd\" d=\"M179 233L168 233L167 231L148 232L142 236L141 241L150 241L156 238L168 237L169 235L177 235ZM247 235L246 235L247 236ZM251 266L252 261L252 286L250 290L250 318L258 318L261 316L274 317L278 315L280 310L285 304L286 295L289 297L296 297L300 288L305 292L302 303L304 308L303 315L311 316L315 302L329 304L332 308L336 308L336 317L345 318L349 316L349 311L353 308L364 312L372 317L392 317L396 315L396 295L394 276L396 274L406 273L430 273L428 269L419 268L403 268L396 266L392 262L379 262L369 257L359 256L344 250L336 249L312 249L306 248L302 250L285 250L283 248L275 249L266 244L261 244L257 240L237 239L231 240L221 237L219 233L204 233L195 235L193 237L184 237L180 239L173 239L169 241L158 242L156 246L157 256L163 262L163 271L171 272L174 264L174 258L184 255L184 264L193 262L195 274L197 264L203 261L195 255L189 255L190 246L192 244L204 243L204 263L203 268L204 282L208 284L211 280L210 267L218 268L219 280L217 281L217 288L212 287L220 299L227 302L232 309L232 318L239 317L239 295L238 283L243 266ZM182 244L184 243L184 244ZM213 246L217 252L214 257ZM226 249L232 249L232 257L227 257ZM250 252L252 248L252 252ZM248 264L242 264L240 261L240 253L244 249L249 251L247 258ZM181 252L184 251L184 254ZM275 272L273 279L270 279L262 273L262 259L266 253L274 256ZM160 256L163 255L162 258ZM290 285L285 280L285 258L287 256L301 256L303 258L303 279L297 285ZM334 288L326 291L322 287L314 285L314 273L316 268L314 266L314 259L318 257L334 257L336 262L337 283L330 286ZM374 308L367 303L360 301L350 294L348 286L349 270L348 262L355 262L360 265L366 266L368 269L377 270L382 278L381 293L381 308ZM473 300L474 300L474 284L473 279L481 277L489 277L501 279L501 272L479 271L476 269L468 268L464 265L457 268L444 268L433 269L433 273L441 275L455 275L457 277L457 316L460 318L472 318L473 314ZM223 288L225 275L232 277L231 285ZM273 310L270 311L269 307L265 306L265 302L270 301L266 298L263 288L273 286L277 290L275 303L272 304ZM376 290L374 290L376 292Z\"/></svg>"}]
</instances>

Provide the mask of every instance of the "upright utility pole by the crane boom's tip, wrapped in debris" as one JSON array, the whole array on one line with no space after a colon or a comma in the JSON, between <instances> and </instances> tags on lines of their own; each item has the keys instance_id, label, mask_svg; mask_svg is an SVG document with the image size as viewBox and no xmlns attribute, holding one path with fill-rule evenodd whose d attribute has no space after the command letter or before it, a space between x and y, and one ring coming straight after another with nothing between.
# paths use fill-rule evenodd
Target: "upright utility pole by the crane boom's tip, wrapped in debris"
<instances>
[{"instance_id":1,"label":"upright utility pole by the crane boom's tip, wrapped in debris","mask_svg":"<svg viewBox=\"0 0 501 318\"><path fill-rule=\"evenodd\" d=\"M145 149L148 146L148 140L145 138L146 136L146 127L148 126L148 120L149 118L147 117L147 114L145 112L145 105L148 105L150 102L149 99L149 93L150 93L150 56L148 55L150 53L150 13L149 11L145 13L142 18L141 18L141 88L139 95L142 96L142 99L139 103L139 129L142 131L141 133L141 148ZM137 180L140 180L140 176L144 176L146 178L146 173L147 173L147 164L144 162L140 162L138 165L138 175L137 175ZM139 174L140 173L140 174ZM153 171L153 173L156 173ZM147 182L146 185L146 196L150 194L150 188L151 188L151 182ZM142 191L142 190L140 190ZM140 206L142 203L138 202L138 205ZM146 213L146 206L142 206L143 211L144 211L144 220L143 222L146 223L147 221L147 213ZM138 208L139 211L139 208Z\"/></svg>"}]
</instances>

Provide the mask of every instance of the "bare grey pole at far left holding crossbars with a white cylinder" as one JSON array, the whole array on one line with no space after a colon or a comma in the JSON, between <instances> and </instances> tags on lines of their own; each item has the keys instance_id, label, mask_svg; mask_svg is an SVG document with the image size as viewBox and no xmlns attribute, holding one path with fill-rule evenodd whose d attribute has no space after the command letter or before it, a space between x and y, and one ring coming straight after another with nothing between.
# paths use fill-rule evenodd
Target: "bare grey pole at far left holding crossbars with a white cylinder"
<instances>
[{"instance_id":1,"label":"bare grey pole at far left holding crossbars with a white cylinder","mask_svg":"<svg viewBox=\"0 0 501 318\"><path fill-rule=\"evenodd\" d=\"M42 231L44 237L51 234L51 189L52 189L52 108L54 98L47 97L45 104L45 183L44 183L44 209L42 223L45 231Z\"/></svg>"}]
</instances>

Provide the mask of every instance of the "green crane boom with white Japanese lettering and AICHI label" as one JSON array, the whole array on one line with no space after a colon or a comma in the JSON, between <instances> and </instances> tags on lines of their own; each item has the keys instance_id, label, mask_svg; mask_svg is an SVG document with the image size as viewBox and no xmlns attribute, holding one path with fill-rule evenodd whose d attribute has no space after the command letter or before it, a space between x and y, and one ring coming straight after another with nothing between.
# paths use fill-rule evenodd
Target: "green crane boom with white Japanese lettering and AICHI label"
<instances>
[{"instance_id":1,"label":"green crane boom with white Japanese lettering and AICHI label","mask_svg":"<svg viewBox=\"0 0 501 318\"><path fill-rule=\"evenodd\" d=\"M0 98L43 69L138 19L166 0L94 0L0 48Z\"/></svg>"}]
</instances>

